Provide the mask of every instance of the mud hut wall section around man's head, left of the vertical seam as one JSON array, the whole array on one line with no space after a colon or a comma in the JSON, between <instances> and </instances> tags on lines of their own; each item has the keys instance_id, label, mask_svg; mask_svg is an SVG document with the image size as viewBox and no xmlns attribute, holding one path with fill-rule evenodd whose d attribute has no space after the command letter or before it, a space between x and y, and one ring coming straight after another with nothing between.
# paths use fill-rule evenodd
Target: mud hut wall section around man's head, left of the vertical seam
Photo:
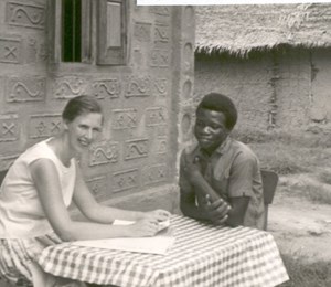
<instances>
[{"instance_id":1,"label":"mud hut wall section around man's head, left of the vertical seam","mask_svg":"<svg viewBox=\"0 0 331 287\"><path fill-rule=\"evenodd\" d=\"M195 62L194 97L199 100L211 92L229 96L238 108L241 129L268 127L271 107L273 62L267 56L197 57Z\"/></svg>"}]
</instances>

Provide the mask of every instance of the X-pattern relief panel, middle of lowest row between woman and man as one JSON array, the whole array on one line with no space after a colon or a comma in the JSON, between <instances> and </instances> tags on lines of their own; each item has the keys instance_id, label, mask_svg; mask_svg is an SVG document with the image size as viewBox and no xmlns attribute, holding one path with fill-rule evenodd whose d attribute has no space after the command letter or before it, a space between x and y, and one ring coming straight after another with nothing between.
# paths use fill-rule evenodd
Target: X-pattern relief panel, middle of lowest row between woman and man
<instances>
[{"instance_id":1,"label":"X-pattern relief panel, middle of lowest row between woman and man","mask_svg":"<svg viewBox=\"0 0 331 287\"><path fill-rule=\"evenodd\" d=\"M124 170L113 173L113 191L119 192L139 187L138 169Z\"/></svg>"}]
</instances>

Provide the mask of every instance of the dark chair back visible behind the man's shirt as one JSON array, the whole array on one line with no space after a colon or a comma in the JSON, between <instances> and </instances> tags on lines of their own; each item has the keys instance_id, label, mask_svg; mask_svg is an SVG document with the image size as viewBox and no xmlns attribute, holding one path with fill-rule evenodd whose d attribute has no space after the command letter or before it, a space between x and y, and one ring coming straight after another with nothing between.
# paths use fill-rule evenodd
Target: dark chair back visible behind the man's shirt
<instances>
[{"instance_id":1,"label":"dark chair back visible behind the man's shirt","mask_svg":"<svg viewBox=\"0 0 331 287\"><path fill-rule=\"evenodd\" d=\"M268 224L268 208L273 203L274 195L278 183L278 174L271 170L260 170L263 190L264 190L264 202L265 202L265 226L267 230Z\"/></svg>"}]
</instances>

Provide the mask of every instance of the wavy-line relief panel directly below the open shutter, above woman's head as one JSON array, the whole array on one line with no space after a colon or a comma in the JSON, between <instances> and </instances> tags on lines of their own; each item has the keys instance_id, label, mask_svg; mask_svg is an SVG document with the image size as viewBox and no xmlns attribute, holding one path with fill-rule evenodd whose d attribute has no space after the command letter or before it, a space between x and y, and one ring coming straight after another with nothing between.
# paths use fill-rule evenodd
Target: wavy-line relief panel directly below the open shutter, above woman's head
<instances>
[{"instance_id":1,"label":"wavy-line relief panel directly below the open shutter, above woman's head","mask_svg":"<svg viewBox=\"0 0 331 287\"><path fill-rule=\"evenodd\" d=\"M121 85L117 77L108 79L97 79L92 84L92 94L98 99L118 98Z\"/></svg>"}]
</instances>

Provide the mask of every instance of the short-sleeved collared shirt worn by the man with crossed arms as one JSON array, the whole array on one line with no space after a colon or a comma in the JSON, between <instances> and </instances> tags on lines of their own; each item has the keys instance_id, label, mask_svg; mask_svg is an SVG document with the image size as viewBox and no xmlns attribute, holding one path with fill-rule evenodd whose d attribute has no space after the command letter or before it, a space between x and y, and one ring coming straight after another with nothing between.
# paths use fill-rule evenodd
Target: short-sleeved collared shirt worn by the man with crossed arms
<instances>
[{"instance_id":1,"label":"short-sleeved collared shirt worn by the man with crossed arms","mask_svg":"<svg viewBox=\"0 0 331 287\"><path fill-rule=\"evenodd\" d=\"M203 177L224 200L248 196L249 203L244 217L244 226L263 228L264 196L259 161L252 149L245 144L229 137L210 156L206 157L199 145L183 150L180 161L179 185L181 193L194 193L196 205L201 199L195 193L184 167L199 156L205 159Z\"/></svg>"}]
</instances>

